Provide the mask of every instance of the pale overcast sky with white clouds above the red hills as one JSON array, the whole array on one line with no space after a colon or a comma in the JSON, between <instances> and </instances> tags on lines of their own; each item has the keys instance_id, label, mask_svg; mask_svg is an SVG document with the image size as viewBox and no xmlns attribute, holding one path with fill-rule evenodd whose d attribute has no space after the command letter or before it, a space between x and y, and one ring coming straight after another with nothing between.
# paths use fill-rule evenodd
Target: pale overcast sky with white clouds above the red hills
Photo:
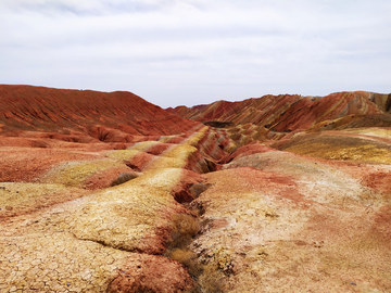
<instances>
[{"instance_id":1,"label":"pale overcast sky with white clouds above the red hills","mask_svg":"<svg viewBox=\"0 0 391 293\"><path fill-rule=\"evenodd\" d=\"M391 92L391 0L0 0L0 84L162 107Z\"/></svg>"}]
</instances>

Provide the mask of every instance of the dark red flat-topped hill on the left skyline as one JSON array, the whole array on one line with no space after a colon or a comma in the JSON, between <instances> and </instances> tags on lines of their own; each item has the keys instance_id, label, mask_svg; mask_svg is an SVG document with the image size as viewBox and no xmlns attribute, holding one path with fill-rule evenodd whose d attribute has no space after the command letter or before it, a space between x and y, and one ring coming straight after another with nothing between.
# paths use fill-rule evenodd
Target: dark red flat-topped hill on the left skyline
<instances>
[{"instance_id":1,"label":"dark red flat-topped hill on the left skyline","mask_svg":"<svg viewBox=\"0 0 391 293\"><path fill-rule=\"evenodd\" d=\"M198 125L125 91L0 85L0 127L5 132L77 131L128 141L129 135L174 135Z\"/></svg>"}]
</instances>

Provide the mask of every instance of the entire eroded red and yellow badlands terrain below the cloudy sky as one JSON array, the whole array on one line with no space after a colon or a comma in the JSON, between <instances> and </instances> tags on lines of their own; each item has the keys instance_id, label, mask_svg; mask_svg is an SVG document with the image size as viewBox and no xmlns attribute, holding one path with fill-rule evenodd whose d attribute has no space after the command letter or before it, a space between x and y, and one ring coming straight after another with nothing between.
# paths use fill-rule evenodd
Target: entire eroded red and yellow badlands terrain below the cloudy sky
<instances>
[{"instance_id":1,"label":"entire eroded red and yellow badlands terrain below the cloudy sky","mask_svg":"<svg viewBox=\"0 0 391 293\"><path fill-rule=\"evenodd\" d=\"M390 94L0 101L0 292L391 291Z\"/></svg>"}]
</instances>

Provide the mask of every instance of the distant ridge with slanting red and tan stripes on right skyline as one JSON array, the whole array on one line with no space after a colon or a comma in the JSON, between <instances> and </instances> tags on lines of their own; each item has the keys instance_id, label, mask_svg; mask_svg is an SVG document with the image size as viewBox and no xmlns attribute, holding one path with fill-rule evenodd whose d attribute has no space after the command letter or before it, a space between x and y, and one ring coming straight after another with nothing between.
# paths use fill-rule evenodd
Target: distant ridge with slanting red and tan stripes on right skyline
<instances>
[{"instance_id":1,"label":"distant ridge with slanting red and tan stripes on right skyline","mask_svg":"<svg viewBox=\"0 0 391 293\"><path fill-rule=\"evenodd\" d=\"M177 106L167 111L197 122L254 124L273 131L290 132L319 124L324 126L343 117L350 117L343 120L348 124L363 115L388 114L391 111L391 94L364 91L337 92L324 98L268 94L241 102L217 101L209 105Z\"/></svg>"}]
</instances>

